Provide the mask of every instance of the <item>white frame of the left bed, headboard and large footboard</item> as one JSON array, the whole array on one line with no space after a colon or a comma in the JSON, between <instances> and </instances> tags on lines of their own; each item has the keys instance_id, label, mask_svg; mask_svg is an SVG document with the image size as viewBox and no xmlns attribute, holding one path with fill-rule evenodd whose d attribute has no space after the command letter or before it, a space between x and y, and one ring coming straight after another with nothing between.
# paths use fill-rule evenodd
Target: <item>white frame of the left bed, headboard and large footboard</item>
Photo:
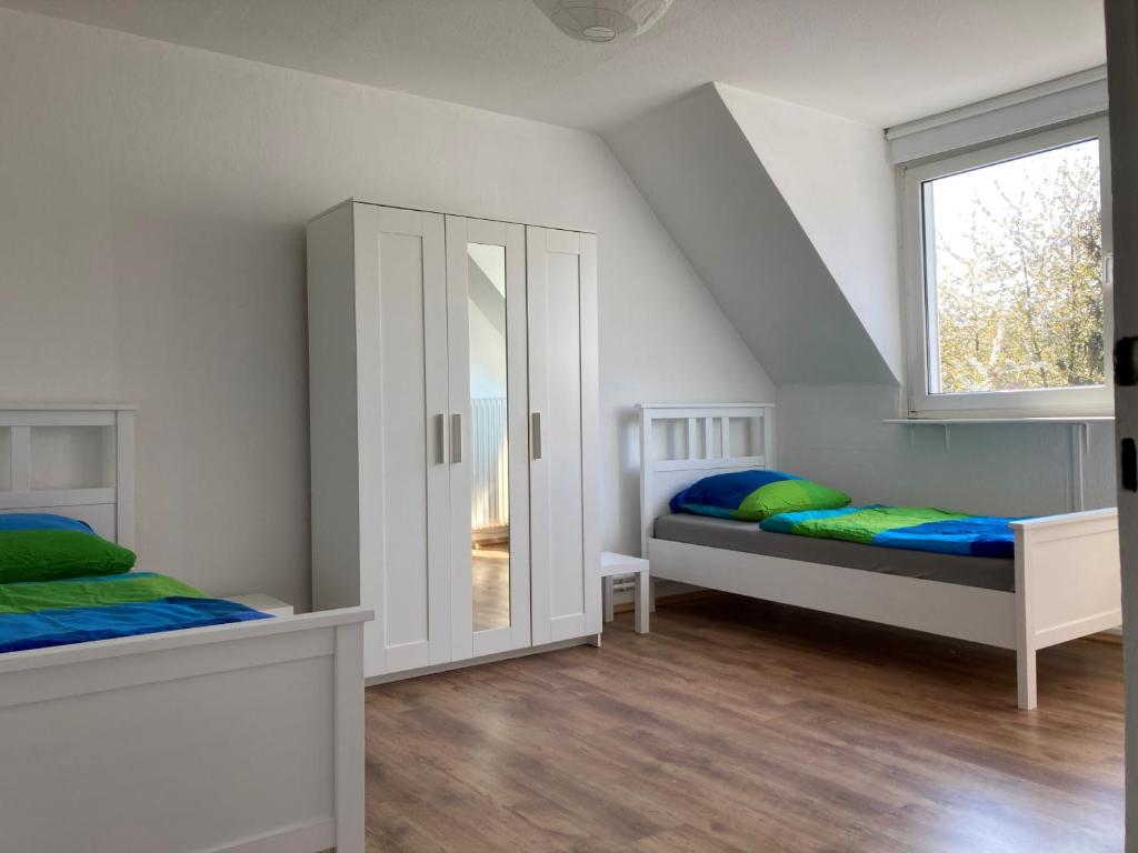
<instances>
[{"instance_id":1,"label":"white frame of the left bed, headboard and large footboard","mask_svg":"<svg viewBox=\"0 0 1138 853\"><path fill-rule=\"evenodd\" d=\"M0 406L0 512L80 517L132 546L134 414ZM72 429L36 431L50 426ZM38 486L38 464L57 477L77 462L68 448L89 449L71 440L85 430L99 430L102 481L86 464L79 487ZM36 452L38 434L64 452ZM0 655L0 846L362 852L370 616L353 607Z\"/></svg>"}]
</instances>

